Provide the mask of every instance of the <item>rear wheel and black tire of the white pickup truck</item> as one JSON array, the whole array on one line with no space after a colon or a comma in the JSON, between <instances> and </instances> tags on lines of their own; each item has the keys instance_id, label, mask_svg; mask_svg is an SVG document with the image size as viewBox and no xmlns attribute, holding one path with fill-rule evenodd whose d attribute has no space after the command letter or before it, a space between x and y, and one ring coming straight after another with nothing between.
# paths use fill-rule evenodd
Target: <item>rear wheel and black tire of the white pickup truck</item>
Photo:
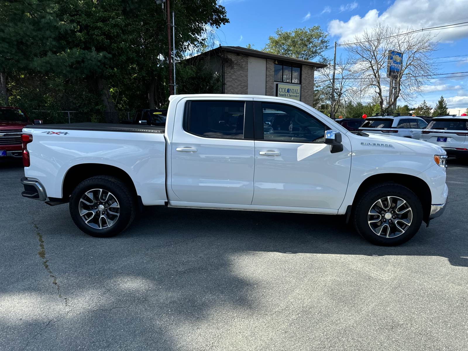
<instances>
[{"instance_id":1,"label":"rear wheel and black tire of the white pickup truck","mask_svg":"<svg viewBox=\"0 0 468 351\"><path fill-rule=\"evenodd\" d=\"M99 194L102 197L100 199ZM108 199L107 202L104 199ZM120 179L94 176L84 180L73 190L70 215L84 233L98 238L110 238L130 226L135 218L136 204L132 190ZM100 209L103 211L99 211ZM85 210L87 212L81 216L80 211Z\"/></svg>"}]
</instances>

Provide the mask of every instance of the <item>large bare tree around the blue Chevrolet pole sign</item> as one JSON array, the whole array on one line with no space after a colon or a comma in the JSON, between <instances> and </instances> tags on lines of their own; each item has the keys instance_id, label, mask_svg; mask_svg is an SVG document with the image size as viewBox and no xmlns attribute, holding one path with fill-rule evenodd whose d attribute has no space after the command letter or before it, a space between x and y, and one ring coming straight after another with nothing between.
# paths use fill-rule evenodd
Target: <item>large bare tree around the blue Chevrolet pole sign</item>
<instances>
[{"instance_id":1,"label":"large bare tree around the blue Chevrolet pole sign","mask_svg":"<svg viewBox=\"0 0 468 351\"><path fill-rule=\"evenodd\" d=\"M377 95L380 110L388 110L402 98L412 102L422 92L424 85L431 80L437 65L430 55L437 50L435 36L415 33L412 29L402 31L377 24L363 35L355 37L355 42L344 43L354 61L354 72L361 80L362 89L369 95ZM387 91L390 78L387 77L388 52L402 54L401 69L393 78L393 92Z\"/></svg>"}]
</instances>

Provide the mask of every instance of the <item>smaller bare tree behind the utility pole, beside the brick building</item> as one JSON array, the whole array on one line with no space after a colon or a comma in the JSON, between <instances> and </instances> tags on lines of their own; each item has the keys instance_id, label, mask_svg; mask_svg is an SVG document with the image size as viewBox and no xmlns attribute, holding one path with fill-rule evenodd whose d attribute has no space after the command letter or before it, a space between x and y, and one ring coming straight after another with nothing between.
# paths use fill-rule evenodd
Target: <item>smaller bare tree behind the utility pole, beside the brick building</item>
<instances>
[{"instance_id":1,"label":"smaller bare tree behind the utility pole, beside the brick building","mask_svg":"<svg viewBox=\"0 0 468 351\"><path fill-rule=\"evenodd\" d=\"M326 102L330 104L330 117L335 116L340 108L359 94L358 89L353 86L355 83L354 66L354 61L349 58L343 60L340 57L336 61L334 94L331 88L333 81L333 65L329 64L327 67L318 70L315 74L315 80L317 80L315 85L317 88L323 90L322 94L319 94L322 101L318 103Z\"/></svg>"}]
</instances>

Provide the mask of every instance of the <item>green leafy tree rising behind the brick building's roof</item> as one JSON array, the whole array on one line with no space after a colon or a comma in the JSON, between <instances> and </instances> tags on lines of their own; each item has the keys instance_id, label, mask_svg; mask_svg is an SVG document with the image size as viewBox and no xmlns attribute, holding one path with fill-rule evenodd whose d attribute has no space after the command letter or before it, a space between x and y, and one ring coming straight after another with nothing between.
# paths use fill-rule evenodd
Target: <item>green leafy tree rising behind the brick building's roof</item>
<instances>
[{"instance_id":1,"label":"green leafy tree rising behind the brick building's roof","mask_svg":"<svg viewBox=\"0 0 468 351\"><path fill-rule=\"evenodd\" d=\"M275 36L268 37L268 43L262 49L277 55L289 56L295 59L312 60L318 58L325 62L321 54L328 47L328 34L320 26L296 28L284 31L278 28Z\"/></svg>"}]
</instances>

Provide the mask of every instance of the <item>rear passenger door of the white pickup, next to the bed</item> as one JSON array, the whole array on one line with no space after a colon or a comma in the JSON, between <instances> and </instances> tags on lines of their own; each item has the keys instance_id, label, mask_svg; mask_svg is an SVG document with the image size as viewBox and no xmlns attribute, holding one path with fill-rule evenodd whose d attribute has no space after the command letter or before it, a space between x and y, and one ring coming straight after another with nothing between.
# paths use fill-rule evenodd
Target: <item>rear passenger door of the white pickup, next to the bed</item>
<instances>
[{"instance_id":1,"label":"rear passenger door of the white pickup, next to the bed","mask_svg":"<svg viewBox=\"0 0 468 351\"><path fill-rule=\"evenodd\" d=\"M245 132L253 134L253 102L246 100L185 102L171 145L171 189L181 201L252 203L255 146Z\"/></svg>"}]
</instances>

